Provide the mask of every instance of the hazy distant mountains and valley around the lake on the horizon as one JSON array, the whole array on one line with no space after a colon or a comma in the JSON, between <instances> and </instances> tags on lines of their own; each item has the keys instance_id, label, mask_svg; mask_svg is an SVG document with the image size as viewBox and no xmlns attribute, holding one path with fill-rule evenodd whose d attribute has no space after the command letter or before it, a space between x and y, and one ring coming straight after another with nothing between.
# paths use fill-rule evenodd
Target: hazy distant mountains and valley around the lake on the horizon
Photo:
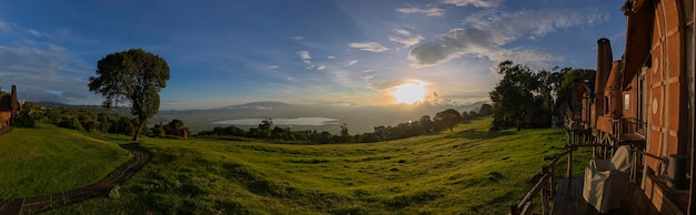
<instances>
[{"instance_id":1,"label":"hazy distant mountains and valley around the lake on the horizon","mask_svg":"<svg viewBox=\"0 0 696 215\"><path fill-rule=\"evenodd\" d=\"M173 119L178 119L183 121L185 126L188 126L196 133L202 130L210 130L215 126L225 126L213 124L213 122L223 120L259 119L260 123L264 117L330 117L336 119L337 124L321 126L296 126L294 130L317 130L337 133L340 130L340 125L345 123L348 125L350 133L357 134L372 132L374 126L378 125L397 125L402 122L417 121L422 115L430 115L432 117L437 112L446 109L455 109L459 112L478 111L484 103L486 102L476 102L466 105L432 103L420 103L415 105L355 105L347 103L306 105L264 101L207 110L159 111L157 116L150 120L150 123L167 123ZM69 105L54 102L39 102L39 104L47 108L79 106L86 109L101 109L99 105ZM130 109L128 108L115 108L113 110L117 113L127 115L130 114Z\"/></svg>"}]
</instances>

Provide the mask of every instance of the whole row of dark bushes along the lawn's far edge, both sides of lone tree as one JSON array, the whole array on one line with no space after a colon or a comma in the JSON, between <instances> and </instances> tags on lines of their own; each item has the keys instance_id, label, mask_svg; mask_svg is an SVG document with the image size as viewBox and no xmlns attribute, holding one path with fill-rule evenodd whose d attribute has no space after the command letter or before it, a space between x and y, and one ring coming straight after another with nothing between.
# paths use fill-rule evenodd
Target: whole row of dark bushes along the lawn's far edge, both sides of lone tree
<instances>
[{"instance_id":1,"label":"whole row of dark bushes along the lawn's far edge, both sides of lone tree","mask_svg":"<svg viewBox=\"0 0 696 215\"><path fill-rule=\"evenodd\" d=\"M54 124L59 127L71 129L81 132L111 133L122 135L135 135L140 124L137 117L123 115L110 109L96 109L83 106L60 106L44 108L40 104L24 102L24 110L18 121L18 126L33 127L36 123ZM195 136L212 139L259 139L278 140L304 143L372 143L406 139L453 127L464 121L481 116L491 115L494 108L483 104L478 111L458 112L448 109L435 114L424 115L416 121L399 123L397 125L379 125L374 127L374 132L351 135L346 124L341 125L340 134L335 135L327 131L292 131L290 127L274 126L272 119L264 119L258 127L243 130L235 125L216 126L212 131L201 131ZM143 135L150 137L188 137L190 132L183 126L180 120L172 120L169 123L160 123L146 127Z\"/></svg>"}]
</instances>

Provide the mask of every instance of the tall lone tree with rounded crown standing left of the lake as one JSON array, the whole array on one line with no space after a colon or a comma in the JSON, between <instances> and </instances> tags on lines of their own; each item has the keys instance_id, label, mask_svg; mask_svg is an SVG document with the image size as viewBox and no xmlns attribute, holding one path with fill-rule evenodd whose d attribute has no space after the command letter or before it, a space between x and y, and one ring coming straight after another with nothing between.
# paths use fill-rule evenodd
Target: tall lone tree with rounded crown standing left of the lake
<instances>
[{"instance_id":1,"label":"tall lone tree with rounded crown standing left of the lake","mask_svg":"<svg viewBox=\"0 0 696 215\"><path fill-rule=\"evenodd\" d=\"M159 110L159 91L167 86L169 65L163 58L142 49L111 53L97 62L97 76L89 78L89 90L105 96L103 106L130 104L138 117L133 141L147 120Z\"/></svg>"}]
</instances>

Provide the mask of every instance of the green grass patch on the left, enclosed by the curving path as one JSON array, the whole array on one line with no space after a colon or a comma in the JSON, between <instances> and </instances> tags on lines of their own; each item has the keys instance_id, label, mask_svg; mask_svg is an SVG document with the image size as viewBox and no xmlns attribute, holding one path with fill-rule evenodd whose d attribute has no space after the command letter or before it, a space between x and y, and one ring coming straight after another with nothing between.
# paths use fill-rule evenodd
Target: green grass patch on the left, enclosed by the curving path
<instances>
[{"instance_id":1,"label":"green grass patch on the left, enclosed by the curving path","mask_svg":"<svg viewBox=\"0 0 696 215\"><path fill-rule=\"evenodd\" d=\"M0 198L10 199L87 186L132 155L112 142L40 125L0 135Z\"/></svg>"}]
</instances>

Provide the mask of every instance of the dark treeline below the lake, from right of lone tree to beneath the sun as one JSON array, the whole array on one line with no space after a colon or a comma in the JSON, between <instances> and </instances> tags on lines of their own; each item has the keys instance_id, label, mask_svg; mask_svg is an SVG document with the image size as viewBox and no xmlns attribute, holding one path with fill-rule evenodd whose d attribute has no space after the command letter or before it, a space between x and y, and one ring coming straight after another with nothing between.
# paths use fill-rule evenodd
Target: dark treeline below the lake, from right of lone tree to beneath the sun
<instances>
[{"instance_id":1,"label":"dark treeline below the lake, from right of lone tree to beneath the sun","mask_svg":"<svg viewBox=\"0 0 696 215\"><path fill-rule=\"evenodd\" d=\"M264 119L261 120L261 123L258 127L249 129L248 131L237 127L235 125L216 126L212 129L212 131L201 131L196 136L213 139L251 137L261 140L281 140L322 144L372 143L406 139L431 132L439 132L443 130L451 131L451 129L456 124L463 121L480 115L490 114L493 114L493 106L489 104L483 104L478 112L470 111L459 113L457 110L448 109L438 112L435 117L430 117L430 115L424 115L417 121L399 123L396 126L375 126L374 132L355 135L351 135L349 133L348 126L346 124L341 125L340 134L335 135L327 131L292 131L290 127L272 126L272 119Z\"/></svg>"}]
</instances>

